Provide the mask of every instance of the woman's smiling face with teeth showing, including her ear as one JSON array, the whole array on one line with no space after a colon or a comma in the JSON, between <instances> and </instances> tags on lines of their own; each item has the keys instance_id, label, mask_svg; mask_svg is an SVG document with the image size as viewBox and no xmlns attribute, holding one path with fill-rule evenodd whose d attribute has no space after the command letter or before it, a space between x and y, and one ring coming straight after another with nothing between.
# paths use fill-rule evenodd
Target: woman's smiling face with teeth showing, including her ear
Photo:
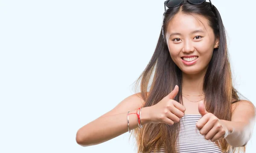
<instances>
[{"instance_id":1,"label":"woman's smiling face with teeth showing, including her ear","mask_svg":"<svg viewBox=\"0 0 256 153\"><path fill-rule=\"evenodd\" d=\"M186 74L205 72L218 46L207 18L182 12L169 22L166 40L172 60Z\"/></svg>"}]
</instances>

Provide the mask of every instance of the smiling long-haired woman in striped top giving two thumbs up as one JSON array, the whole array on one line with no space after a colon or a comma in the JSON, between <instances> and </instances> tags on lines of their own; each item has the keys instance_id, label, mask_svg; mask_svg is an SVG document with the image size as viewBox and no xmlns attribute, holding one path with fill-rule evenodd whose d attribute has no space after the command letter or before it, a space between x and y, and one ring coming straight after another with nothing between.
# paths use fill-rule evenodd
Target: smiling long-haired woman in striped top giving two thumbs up
<instances>
[{"instance_id":1,"label":"smiling long-haired woman in striped top giving two thumbs up","mask_svg":"<svg viewBox=\"0 0 256 153\"><path fill-rule=\"evenodd\" d=\"M81 127L77 143L95 145L133 130L138 153L243 151L255 107L233 87L218 10L206 0L167 0L166 6L140 92Z\"/></svg>"}]
</instances>

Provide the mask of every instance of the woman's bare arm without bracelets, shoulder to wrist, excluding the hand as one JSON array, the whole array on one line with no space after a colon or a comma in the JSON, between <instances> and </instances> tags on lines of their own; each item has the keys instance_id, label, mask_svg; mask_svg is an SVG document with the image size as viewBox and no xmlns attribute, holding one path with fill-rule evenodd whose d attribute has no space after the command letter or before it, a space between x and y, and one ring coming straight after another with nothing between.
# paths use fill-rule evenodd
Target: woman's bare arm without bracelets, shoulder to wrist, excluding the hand
<instances>
[{"instance_id":1,"label":"woman's bare arm without bracelets, shoulder to wrist, excluding the hand","mask_svg":"<svg viewBox=\"0 0 256 153\"><path fill-rule=\"evenodd\" d=\"M233 147L245 146L253 134L255 106L250 101L241 100L232 104L232 111L231 121L221 120L230 133L225 139Z\"/></svg>"}]
</instances>

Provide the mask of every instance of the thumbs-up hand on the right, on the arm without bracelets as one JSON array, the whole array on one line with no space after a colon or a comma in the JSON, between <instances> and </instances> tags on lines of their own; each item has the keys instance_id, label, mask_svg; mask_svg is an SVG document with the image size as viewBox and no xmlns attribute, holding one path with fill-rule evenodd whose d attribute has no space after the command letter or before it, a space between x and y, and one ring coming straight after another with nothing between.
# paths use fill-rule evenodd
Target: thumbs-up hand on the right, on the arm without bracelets
<instances>
[{"instance_id":1,"label":"thumbs-up hand on the right, on the arm without bracelets","mask_svg":"<svg viewBox=\"0 0 256 153\"><path fill-rule=\"evenodd\" d=\"M205 136L205 139L215 142L227 137L229 133L225 124L215 115L205 110L203 101L199 102L198 111L202 118L196 123L196 127L201 135Z\"/></svg>"}]
</instances>

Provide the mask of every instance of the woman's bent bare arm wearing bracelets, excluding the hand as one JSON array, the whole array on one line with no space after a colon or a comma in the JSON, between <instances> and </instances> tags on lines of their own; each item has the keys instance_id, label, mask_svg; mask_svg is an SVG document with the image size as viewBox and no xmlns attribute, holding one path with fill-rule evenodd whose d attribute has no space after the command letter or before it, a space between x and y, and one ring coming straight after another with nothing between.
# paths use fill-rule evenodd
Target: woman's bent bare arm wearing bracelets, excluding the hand
<instances>
[{"instance_id":1,"label":"woman's bent bare arm wearing bracelets, excluding the hand","mask_svg":"<svg viewBox=\"0 0 256 153\"><path fill-rule=\"evenodd\" d=\"M143 104L140 94L134 94L121 101L113 110L105 113L96 120L81 127L76 134L76 142L81 146L90 146L113 139L128 132L127 113L136 113ZM148 122L147 107L141 110L141 123ZM137 128L137 115L129 115L129 129Z\"/></svg>"}]
</instances>

